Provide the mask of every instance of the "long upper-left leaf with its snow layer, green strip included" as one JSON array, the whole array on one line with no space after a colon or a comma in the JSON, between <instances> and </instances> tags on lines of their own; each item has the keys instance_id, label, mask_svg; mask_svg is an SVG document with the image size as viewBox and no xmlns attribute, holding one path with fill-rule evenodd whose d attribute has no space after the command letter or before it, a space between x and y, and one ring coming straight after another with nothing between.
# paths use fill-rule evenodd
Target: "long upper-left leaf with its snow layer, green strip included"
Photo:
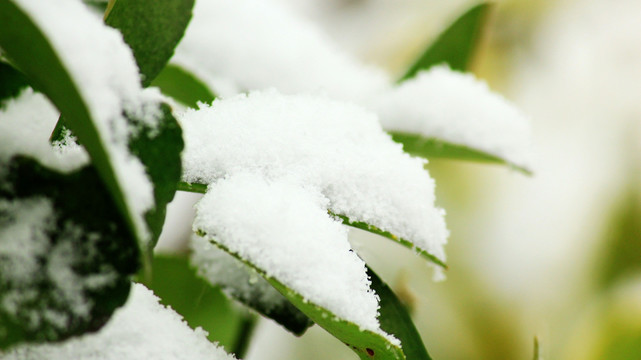
<instances>
[{"instance_id":1,"label":"long upper-left leaf with its snow layer, green strip included","mask_svg":"<svg viewBox=\"0 0 641 360\"><path fill-rule=\"evenodd\" d=\"M4 1L0 22L6 56L63 113L143 246L150 239L144 214L154 205L153 188L128 150L126 116L154 127L162 112L158 96L142 91L122 36L76 0Z\"/></svg>"}]
</instances>

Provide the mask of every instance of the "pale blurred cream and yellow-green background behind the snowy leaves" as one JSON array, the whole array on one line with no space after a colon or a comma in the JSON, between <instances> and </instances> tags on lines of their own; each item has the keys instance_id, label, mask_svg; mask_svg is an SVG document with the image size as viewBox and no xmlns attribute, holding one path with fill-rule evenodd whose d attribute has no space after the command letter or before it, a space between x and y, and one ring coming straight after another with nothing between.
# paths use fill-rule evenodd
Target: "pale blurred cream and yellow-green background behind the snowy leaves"
<instances>
[{"instance_id":1,"label":"pale blurred cream and yellow-green background behind the snowy leaves","mask_svg":"<svg viewBox=\"0 0 641 360\"><path fill-rule=\"evenodd\" d=\"M477 3L277 1L393 74ZM641 1L497 2L472 71L531 118L534 175L428 164L451 231L444 282L389 240L353 230L354 247L410 306L434 359L532 359L535 336L544 359L641 359ZM160 253L190 233L198 196L178 195ZM225 334L212 338L227 346ZM296 338L259 321L245 359L355 357L318 327Z\"/></svg>"}]
</instances>

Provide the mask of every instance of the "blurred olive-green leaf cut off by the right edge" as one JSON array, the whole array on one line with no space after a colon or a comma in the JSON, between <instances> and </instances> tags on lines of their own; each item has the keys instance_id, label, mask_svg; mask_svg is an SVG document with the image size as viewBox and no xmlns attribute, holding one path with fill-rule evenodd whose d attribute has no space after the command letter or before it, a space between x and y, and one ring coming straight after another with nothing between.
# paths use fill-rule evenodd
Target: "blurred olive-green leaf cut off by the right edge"
<instances>
[{"instance_id":1,"label":"blurred olive-green leaf cut off by the right edge","mask_svg":"<svg viewBox=\"0 0 641 360\"><path fill-rule=\"evenodd\" d=\"M627 191L614 212L604 241L601 286L641 271L641 190Z\"/></svg>"}]
</instances>

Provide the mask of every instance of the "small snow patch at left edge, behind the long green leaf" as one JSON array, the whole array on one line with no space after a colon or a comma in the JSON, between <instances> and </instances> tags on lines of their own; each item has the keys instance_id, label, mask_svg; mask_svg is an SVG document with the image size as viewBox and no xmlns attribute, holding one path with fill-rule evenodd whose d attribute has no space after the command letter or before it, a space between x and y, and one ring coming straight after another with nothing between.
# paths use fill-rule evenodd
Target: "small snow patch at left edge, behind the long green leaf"
<instances>
[{"instance_id":1,"label":"small snow patch at left edge, behind the long green leaf","mask_svg":"<svg viewBox=\"0 0 641 360\"><path fill-rule=\"evenodd\" d=\"M85 165L89 160L87 153L73 141L53 147L49 143L58 117L49 100L31 88L8 100L4 109L0 109L0 162L21 154L62 172Z\"/></svg>"}]
</instances>

